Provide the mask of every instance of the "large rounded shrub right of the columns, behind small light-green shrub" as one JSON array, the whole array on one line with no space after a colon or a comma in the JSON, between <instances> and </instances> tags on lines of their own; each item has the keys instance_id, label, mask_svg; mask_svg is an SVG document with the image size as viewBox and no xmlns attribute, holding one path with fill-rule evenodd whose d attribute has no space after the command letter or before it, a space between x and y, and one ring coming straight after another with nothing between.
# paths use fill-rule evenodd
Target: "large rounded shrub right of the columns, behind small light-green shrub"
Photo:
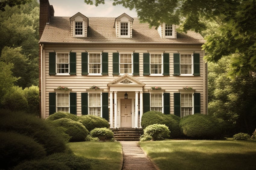
<instances>
[{"instance_id":1,"label":"large rounded shrub right of the columns, behind small light-green shrub","mask_svg":"<svg viewBox=\"0 0 256 170\"><path fill-rule=\"evenodd\" d=\"M170 130L170 138L179 138L181 130L179 126L180 117L172 114L163 114L158 111L148 111L142 115L141 126L145 129L149 125L163 124Z\"/></svg>"}]
</instances>

